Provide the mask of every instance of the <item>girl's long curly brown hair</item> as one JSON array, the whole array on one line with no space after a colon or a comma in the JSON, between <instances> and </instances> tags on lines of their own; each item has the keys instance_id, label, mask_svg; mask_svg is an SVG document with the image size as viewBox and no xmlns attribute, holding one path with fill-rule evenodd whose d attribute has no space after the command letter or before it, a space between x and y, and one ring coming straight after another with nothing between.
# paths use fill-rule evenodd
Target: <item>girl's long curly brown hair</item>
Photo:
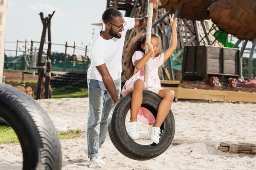
<instances>
[{"instance_id":1,"label":"girl's long curly brown hair","mask_svg":"<svg viewBox=\"0 0 256 170\"><path fill-rule=\"evenodd\" d=\"M151 34L151 37L156 37L158 39L158 36L156 34ZM126 68L127 69L127 77L131 77L134 74L134 68L135 66L132 63L132 56L135 53L135 51L142 51L144 53L144 50L141 48L141 45L145 45L146 42L146 33L139 33L136 36L134 36L129 45L128 45L128 51L125 54L125 62L126 62ZM158 51L155 57L159 56L162 53L162 51ZM158 68L158 75L161 75L161 66Z\"/></svg>"}]
</instances>

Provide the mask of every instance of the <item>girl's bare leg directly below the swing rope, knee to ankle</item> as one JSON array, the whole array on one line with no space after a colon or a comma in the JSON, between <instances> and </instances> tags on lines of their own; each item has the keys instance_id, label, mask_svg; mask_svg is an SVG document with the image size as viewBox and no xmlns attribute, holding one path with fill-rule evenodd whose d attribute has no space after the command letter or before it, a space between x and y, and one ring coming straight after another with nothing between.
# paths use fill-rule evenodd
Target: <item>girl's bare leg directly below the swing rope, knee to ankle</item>
<instances>
[{"instance_id":1,"label":"girl's bare leg directly below the swing rope, knee to ankle","mask_svg":"<svg viewBox=\"0 0 256 170\"><path fill-rule=\"evenodd\" d=\"M137 122L137 115L143 100L145 83L141 79L134 82L134 90L131 96L131 122Z\"/></svg>"}]
</instances>

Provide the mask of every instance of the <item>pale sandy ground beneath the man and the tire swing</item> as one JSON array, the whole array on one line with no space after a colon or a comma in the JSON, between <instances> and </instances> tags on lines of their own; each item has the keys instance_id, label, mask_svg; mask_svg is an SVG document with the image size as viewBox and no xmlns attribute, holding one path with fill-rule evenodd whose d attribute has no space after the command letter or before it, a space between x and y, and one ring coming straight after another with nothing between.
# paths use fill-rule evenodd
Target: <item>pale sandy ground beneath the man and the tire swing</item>
<instances>
[{"instance_id":1,"label":"pale sandy ground beneath the man and the tire swing","mask_svg":"<svg viewBox=\"0 0 256 170\"><path fill-rule=\"evenodd\" d=\"M61 140L63 170L87 170L89 159L83 152L87 145L88 98L43 99L38 101L51 117L58 130L85 131L79 139ZM256 139L256 104L183 100L173 103L176 131L171 145L155 159L135 161L123 156L113 146L109 136L100 155L106 170L253 170L256 156L230 154L217 150L220 142L253 142ZM129 113L128 113L129 114ZM127 117L128 118L128 117ZM127 119L128 121L128 119ZM139 124L139 143L148 144L147 126ZM211 145L209 145L211 143ZM214 145L216 144L216 145ZM19 144L0 145L0 169L22 169L22 152Z\"/></svg>"}]
</instances>

